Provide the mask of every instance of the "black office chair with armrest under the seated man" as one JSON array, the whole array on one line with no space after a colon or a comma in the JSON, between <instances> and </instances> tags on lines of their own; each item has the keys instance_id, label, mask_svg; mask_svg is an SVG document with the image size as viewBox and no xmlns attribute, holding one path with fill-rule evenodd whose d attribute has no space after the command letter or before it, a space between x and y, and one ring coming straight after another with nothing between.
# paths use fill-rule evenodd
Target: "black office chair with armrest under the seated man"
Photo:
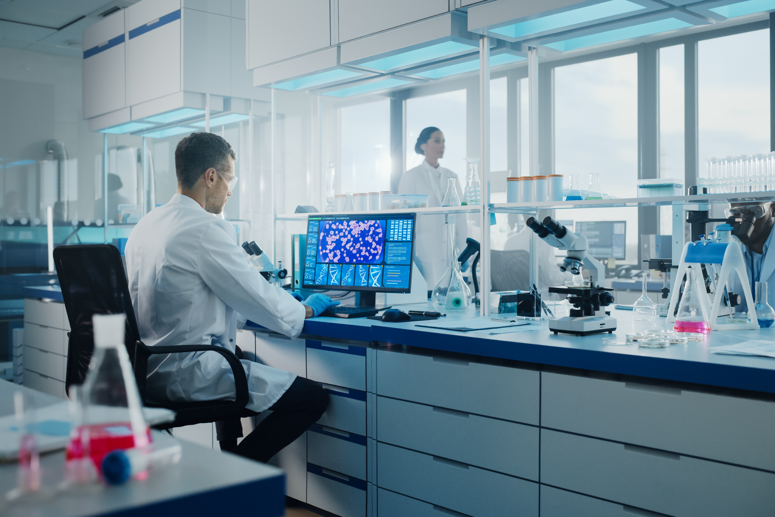
<instances>
[{"instance_id":1,"label":"black office chair with armrest under the seated man","mask_svg":"<svg viewBox=\"0 0 775 517\"><path fill-rule=\"evenodd\" d=\"M140 398L147 407L164 407L175 413L174 422L158 427L189 426L219 420L256 416L245 409L249 394L247 377L242 363L226 348L198 344L189 346L148 347L140 341L129 286L118 248L113 245L57 246L53 250L67 319L70 320L70 341L67 345L66 385L81 384L86 376L94 340L91 317L95 314L125 313L126 337L124 344L133 361L135 380ZM203 402L148 402L146 375L148 358L153 354L177 354L193 351L214 351L221 354L234 374L236 400L208 400Z\"/></svg>"}]
</instances>

